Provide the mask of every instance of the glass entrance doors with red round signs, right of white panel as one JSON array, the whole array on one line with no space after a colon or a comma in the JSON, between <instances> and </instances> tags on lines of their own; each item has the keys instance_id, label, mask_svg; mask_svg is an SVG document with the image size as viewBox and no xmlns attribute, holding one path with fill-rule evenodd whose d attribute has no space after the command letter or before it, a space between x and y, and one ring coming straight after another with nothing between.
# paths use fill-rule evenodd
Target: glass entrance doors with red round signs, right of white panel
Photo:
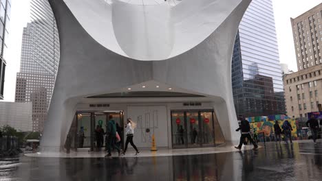
<instances>
[{"instance_id":1,"label":"glass entrance doors with red round signs, right of white panel","mask_svg":"<svg viewBox=\"0 0 322 181\"><path fill-rule=\"evenodd\" d=\"M172 147L212 147L224 143L213 110L171 111Z\"/></svg>"}]
</instances>

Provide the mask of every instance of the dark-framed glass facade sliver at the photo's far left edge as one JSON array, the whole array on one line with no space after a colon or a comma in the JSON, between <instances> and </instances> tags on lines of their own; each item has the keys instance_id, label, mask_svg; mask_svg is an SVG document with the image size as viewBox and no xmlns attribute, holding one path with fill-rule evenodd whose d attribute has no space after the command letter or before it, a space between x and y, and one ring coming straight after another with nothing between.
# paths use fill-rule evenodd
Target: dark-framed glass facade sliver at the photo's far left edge
<instances>
[{"instance_id":1,"label":"dark-framed glass facade sliver at the photo's far left edge","mask_svg":"<svg viewBox=\"0 0 322 181\"><path fill-rule=\"evenodd\" d=\"M6 73L6 38L9 32L11 0L0 3L0 99L3 99L3 86Z\"/></svg>"}]
</instances>

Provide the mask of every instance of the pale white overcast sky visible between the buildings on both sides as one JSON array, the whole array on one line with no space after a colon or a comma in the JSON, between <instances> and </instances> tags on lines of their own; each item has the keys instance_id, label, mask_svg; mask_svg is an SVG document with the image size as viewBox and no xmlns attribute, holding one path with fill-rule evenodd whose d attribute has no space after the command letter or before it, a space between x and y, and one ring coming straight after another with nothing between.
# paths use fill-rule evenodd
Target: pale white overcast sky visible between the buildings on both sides
<instances>
[{"instance_id":1,"label":"pale white overcast sky visible between the buildings on both sides","mask_svg":"<svg viewBox=\"0 0 322 181\"><path fill-rule=\"evenodd\" d=\"M263 0L267 1L267 0ZM295 18L310 10L321 0L272 0L275 11L277 39L279 43L280 62L289 69L297 71L290 17ZM14 101L16 75L20 67L21 38L23 27L30 20L30 0L12 0L9 37L6 52L6 79L4 101Z\"/></svg>"}]
</instances>

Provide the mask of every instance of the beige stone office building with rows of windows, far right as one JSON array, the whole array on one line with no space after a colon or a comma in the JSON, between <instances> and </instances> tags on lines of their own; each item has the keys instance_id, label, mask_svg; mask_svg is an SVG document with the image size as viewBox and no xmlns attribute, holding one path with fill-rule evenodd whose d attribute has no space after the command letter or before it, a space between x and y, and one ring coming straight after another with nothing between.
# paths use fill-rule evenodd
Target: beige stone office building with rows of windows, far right
<instances>
[{"instance_id":1,"label":"beige stone office building with rows of windows, far right","mask_svg":"<svg viewBox=\"0 0 322 181\"><path fill-rule=\"evenodd\" d=\"M322 3L291 19L299 71L283 77L290 117L308 117L322 102Z\"/></svg>"}]
</instances>

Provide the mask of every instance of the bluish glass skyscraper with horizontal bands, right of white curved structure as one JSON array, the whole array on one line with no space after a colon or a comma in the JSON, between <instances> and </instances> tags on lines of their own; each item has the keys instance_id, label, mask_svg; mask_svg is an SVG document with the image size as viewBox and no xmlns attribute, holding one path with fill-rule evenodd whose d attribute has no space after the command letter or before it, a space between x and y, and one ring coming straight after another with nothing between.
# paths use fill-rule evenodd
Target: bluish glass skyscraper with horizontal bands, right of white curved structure
<instances>
[{"instance_id":1,"label":"bluish glass skyscraper with horizontal bands, right of white curved structure","mask_svg":"<svg viewBox=\"0 0 322 181\"><path fill-rule=\"evenodd\" d=\"M272 0L253 0L236 36L232 84L237 114L285 114Z\"/></svg>"}]
</instances>

